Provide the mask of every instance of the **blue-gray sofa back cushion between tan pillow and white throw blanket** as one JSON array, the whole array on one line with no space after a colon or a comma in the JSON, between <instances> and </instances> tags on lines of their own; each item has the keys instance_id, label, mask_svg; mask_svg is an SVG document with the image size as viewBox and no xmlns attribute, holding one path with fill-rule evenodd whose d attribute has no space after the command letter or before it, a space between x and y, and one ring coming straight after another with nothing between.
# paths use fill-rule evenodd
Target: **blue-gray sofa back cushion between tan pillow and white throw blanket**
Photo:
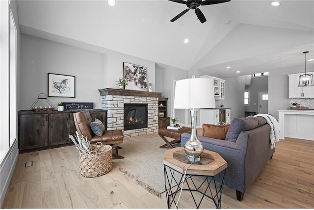
<instances>
[{"instance_id":1,"label":"blue-gray sofa back cushion between tan pillow and white throw blanket","mask_svg":"<svg viewBox=\"0 0 314 210\"><path fill-rule=\"evenodd\" d=\"M256 117L235 118L231 121L230 128L226 135L226 141L235 142L240 132L255 129L258 125L259 121Z\"/></svg>"}]
</instances>

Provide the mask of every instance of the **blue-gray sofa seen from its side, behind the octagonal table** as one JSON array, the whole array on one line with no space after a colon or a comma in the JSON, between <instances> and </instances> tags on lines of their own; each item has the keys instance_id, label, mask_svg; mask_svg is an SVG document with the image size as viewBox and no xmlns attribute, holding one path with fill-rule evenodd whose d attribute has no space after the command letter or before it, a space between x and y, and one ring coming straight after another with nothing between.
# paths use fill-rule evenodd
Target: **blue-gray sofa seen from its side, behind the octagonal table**
<instances>
[{"instance_id":1,"label":"blue-gray sofa seen from its side, behind the octagonal table","mask_svg":"<svg viewBox=\"0 0 314 210\"><path fill-rule=\"evenodd\" d=\"M275 152L269 133L270 126L264 118L248 117L232 120L226 140L198 135L204 149L220 154L228 162L225 184L236 190L239 201ZM189 133L181 135L181 146L189 137Z\"/></svg>"}]
</instances>

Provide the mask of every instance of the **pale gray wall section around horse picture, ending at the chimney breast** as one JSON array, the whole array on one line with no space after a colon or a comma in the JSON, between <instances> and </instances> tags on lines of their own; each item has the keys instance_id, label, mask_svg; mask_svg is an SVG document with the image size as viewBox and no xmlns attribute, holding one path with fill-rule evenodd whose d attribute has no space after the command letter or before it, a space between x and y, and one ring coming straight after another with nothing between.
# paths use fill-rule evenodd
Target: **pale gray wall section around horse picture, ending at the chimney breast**
<instances>
[{"instance_id":1,"label":"pale gray wall section around horse picture, ending at the chimney breast","mask_svg":"<svg viewBox=\"0 0 314 210\"><path fill-rule=\"evenodd\" d=\"M76 97L48 97L54 107L58 102L93 102L94 108L102 108L98 89L106 84L101 53L22 34L21 54L21 109L29 109L40 93L48 96L48 73L76 77Z\"/></svg>"}]
</instances>

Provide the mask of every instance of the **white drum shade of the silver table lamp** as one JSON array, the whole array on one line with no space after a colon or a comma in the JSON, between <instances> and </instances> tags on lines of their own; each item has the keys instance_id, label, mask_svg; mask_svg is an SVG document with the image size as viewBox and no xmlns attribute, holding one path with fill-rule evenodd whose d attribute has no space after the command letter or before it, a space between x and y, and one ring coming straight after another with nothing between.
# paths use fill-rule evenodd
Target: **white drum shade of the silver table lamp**
<instances>
[{"instance_id":1,"label":"white drum shade of the silver table lamp","mask_svg":"<svg viewBox=\"0 0 314 210\"><path fill-rule=\"evenodd\" d=\"M174 108L215 108L213 80L206 78L176 81Z\"/></svg>"}]
</instances>

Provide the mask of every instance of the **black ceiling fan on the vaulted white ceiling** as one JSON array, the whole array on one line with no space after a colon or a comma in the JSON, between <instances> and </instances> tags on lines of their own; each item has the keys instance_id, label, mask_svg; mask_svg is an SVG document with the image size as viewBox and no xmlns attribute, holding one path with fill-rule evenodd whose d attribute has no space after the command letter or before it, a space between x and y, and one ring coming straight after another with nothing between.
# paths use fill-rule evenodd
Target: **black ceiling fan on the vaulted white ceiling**
<instances>
[{"instance_id":1,"label":"black ceiling fan on the vaulted white ceiling","mask_svg":"<svg viewBox=\"0 0 314 210\"><path fill-rule=\"evenodd\" d=\"M177 2L177 3L183 3L186 4L186 6L188 7L188 9L185 9L183 12L181 12L179 15L177 15L176 17L174 17L173 19L171 19L171 22L176 21L177 19L179 19L181 16L183 16L188 10L190 9L194 9L195 10L195 14L197 16L197 18L201 21L201 23L205 23L206 22L206 18L203 14L203 12L197 8L200 5L204 6L204 5L211 5L211 4L217 4L217 3L224 3L224 2L228 2L230 0L170 0L173 2Z\"/></svg>"}]
</instances>

